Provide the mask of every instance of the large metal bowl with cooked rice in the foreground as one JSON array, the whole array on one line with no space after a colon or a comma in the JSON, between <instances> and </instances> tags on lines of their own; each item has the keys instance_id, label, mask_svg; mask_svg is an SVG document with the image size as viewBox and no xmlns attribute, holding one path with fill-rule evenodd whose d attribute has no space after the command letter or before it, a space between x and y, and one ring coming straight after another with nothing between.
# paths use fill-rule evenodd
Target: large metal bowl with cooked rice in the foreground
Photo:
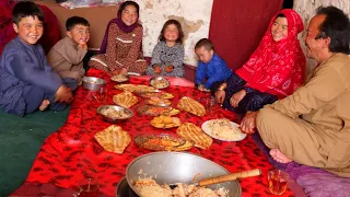
<instances>
[{"instance_id":1,"label":"large metal bowl with cooked rice in the foreground","mask_svg":"<svg viewBox=\"0 0 350 197\"><path fill-rule=\"evenodd\" d=\"M140 197L241 197L237 181L198 187L192 182L230 174L223 166L187 152L153 152L131 161L126 171L129 187ZM189 192L190 190L190 192ZM205 195L205 196L206 196ZM184 197L185 197L184 196Z\"/></svg>"}]
</instances>

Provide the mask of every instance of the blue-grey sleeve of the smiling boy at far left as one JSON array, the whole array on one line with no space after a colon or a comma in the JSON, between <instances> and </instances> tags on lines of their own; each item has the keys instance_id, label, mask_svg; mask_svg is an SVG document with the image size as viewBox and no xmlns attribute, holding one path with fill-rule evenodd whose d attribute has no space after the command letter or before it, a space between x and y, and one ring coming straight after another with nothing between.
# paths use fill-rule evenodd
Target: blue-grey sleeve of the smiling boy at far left
<instances>
[{"instance_id":1,"label":"blue-grey sleeve of the smiling boy at far left","mask_svg":"<svg viewBox=\"0 0 350 197\"><path fill-rule=\"evenodd\" d=\"M38 69L37 65L31 60L31 57L19 49L11 49L9 54L5 57L5 69L24 83L34 84L50 93L56 93L62 84L59 76L47 63L44 54L42 55L42 60L44 61L43 70Z\"/></svg>"}]
</instances>

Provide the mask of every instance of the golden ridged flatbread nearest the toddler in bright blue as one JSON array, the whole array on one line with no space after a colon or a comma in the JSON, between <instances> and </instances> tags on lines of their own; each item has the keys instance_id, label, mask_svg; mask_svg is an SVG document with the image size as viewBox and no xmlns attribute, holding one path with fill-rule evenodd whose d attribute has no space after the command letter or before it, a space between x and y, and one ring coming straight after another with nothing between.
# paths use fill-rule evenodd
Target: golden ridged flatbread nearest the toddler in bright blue
<instances>
[{"instance_id":1,"label":"golden ridged flatbread nearest the toddler in bright blue","mask_svg":"<svg viewBox=\"0 0 350 197\"><path fill-rule=\"evenodd\" d=\"M179 100L177 107L182 111L189 112L197 116L206 115L206 108L202 104L198 103L197 101L184 96Z\"/></svg>"}]
</instances>

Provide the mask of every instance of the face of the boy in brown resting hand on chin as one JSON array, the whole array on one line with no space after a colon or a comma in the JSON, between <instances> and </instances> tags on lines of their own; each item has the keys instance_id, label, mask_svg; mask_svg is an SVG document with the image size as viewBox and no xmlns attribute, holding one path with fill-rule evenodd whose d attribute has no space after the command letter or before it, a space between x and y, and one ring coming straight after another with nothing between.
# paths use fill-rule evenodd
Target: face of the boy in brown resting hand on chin
<instances>
[{"instance_id":1,"label":"face of the boy in brown resting hand on chin","mask_svg":"<svg viewBox=\"0 0 350 197\"><path fill-rule=\"evenodd\" d=\"M90 39L90 27L77 24L67 32L67 35L78 45L85 45Z\"/></svg>"}]
</instances>

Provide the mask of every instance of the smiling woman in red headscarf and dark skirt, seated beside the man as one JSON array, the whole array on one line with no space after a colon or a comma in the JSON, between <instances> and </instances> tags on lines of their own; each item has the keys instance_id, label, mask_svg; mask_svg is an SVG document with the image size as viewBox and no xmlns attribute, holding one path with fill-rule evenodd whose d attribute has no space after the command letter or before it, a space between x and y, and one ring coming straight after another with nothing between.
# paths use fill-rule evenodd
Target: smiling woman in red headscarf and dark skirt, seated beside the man
<instances>
[{"instance_id":1,"label":"smiling woman in red headscarf and dark skirt, seated beside the man","mask_svg":"<svg viewBox=\"0 0 350 197\"><path fill-rule=\"evenodd\" d=\"M306 58L298 40L303 28L295 11L278 12L250 58L215 90L217 101L245 114L292 94L304 82Z\"/></svg>"}]
</instances>

